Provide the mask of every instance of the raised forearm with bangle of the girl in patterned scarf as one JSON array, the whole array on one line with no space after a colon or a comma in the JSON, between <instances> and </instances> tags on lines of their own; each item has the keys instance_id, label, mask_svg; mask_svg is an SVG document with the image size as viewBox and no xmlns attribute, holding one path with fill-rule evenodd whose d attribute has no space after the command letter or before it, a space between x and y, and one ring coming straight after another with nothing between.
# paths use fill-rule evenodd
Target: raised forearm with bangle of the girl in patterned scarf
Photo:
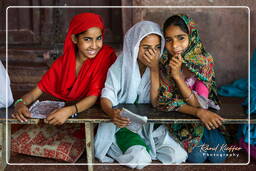
<instances>
[{"instance_id":1,"label":"raised forearm with bangle of the girl in patterned scarf","mask_svg":"<svg viewBox=\"0 0 256 171\"><path fill-rule=\"evenodd\" d=\"M200 107L200 104L196 98L196 95L193 93L193 91L187 86L187 84L185 83L185 80L181 77L176 77L174 78L180 92L181 95L183 96L183 98L185 99L185 101L194 107Z\"/></svg>"}]
</instances>

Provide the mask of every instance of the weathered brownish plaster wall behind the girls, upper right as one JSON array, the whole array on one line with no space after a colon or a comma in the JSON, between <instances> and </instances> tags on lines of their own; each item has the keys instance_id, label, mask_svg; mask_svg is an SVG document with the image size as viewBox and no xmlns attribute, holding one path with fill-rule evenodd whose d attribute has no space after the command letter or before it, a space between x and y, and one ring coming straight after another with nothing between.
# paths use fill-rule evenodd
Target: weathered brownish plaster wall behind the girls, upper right
<instances>
[{"instance_id":1,"label":"weathered brownish plaster wall behind the girls, upper right","mask_svg":"<svg viewBox=\"0 0 256 171\"><path fill-rule=\"evenodd\" d=\"M248 17L250 12L251 50L256 48L256 5L253 0L135 0L132 6L168 6L166 8L126 9L123 28L126 31L132 24L141 20L151 20L161 26L173 14L185 13L199 26L204 46L215 58L217 85L247 77L248 72ZM248 6L242 8L177 8L175 6ZM130 12L130 13L129 13Z\"/></svg>"}]
</instances>

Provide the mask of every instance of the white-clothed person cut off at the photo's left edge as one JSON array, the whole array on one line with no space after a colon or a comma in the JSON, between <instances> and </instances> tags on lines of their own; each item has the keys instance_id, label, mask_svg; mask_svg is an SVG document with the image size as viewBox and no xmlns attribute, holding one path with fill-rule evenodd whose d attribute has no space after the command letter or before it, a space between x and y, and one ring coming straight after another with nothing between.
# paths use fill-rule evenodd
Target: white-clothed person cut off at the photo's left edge
<instances>
[{"instance_id":1,"label":"white-clothed person cut off at the photo's left edge","mask_svg":"<svg viewBox=\"0 0 256 171\"><path fill-rule=\"evenodd\" d=\"M0 108L5 108L13 103L13 96L10 87L10 79L0 61Z\"/></svg>"}]
</instances>

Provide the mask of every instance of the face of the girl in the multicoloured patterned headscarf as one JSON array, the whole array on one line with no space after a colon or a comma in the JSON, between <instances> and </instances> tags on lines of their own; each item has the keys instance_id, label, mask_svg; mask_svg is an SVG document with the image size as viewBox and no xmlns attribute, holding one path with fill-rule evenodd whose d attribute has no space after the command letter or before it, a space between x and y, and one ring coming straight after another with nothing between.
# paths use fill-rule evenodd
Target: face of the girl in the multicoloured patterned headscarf
<instances>
[{"instance_id":1,"label":"face of the girl in the multicoloured patterned headscarf","mask_svg":"<svg viewBox=\"0 0 256 171\"><path fill-rule=\"evenodd\" d=\"M187 49L189 37L179 26L171 25L165 30L165 41L165 47L168 52L173 56L177 56Z\"/></svg>"}]
</instances>

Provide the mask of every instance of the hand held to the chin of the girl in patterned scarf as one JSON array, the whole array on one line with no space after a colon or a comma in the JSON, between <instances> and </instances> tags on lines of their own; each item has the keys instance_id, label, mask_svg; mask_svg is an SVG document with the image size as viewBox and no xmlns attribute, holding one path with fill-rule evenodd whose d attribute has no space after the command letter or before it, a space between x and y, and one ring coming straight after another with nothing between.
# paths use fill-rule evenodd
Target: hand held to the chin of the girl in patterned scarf
<instances>
[{"instance_id":1,"label":"hand held to the chin of the girl in patterned scarf","mask_svg":"<svg viewBox=\"0 0 256 171\"><path fill-rule=\"evenodd\" d=\"M171 69L171 77L174 79L180 78L180 70L182 66L182 57L181 55L173 56L170 60L169 67Z\"/></svg>"}]
</instances>

